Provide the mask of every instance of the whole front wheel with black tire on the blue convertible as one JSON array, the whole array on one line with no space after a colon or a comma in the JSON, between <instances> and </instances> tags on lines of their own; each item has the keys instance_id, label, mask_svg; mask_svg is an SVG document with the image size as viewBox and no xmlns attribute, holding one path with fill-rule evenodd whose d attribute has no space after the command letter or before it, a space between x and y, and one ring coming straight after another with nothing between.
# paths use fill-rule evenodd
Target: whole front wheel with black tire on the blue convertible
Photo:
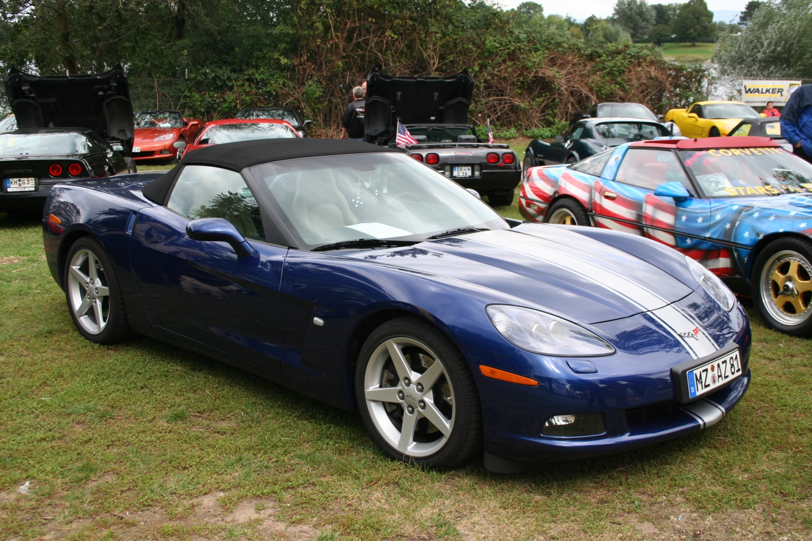
<instances>
[{"instance_id":1,"label":"whole front wheel with black tire on the blue convertible","mask_svg":"<svg viewBox=\"0 0 812 541\"><path fill-rule=\"evenodd\" d=\"M416 379L408 385L395 368L389 342L396 344ZM433 374L442 374L430 389L423 389L419 377L429 374L426 366L434 366L438 360L440 368L432 369ZM367 393L374 391L387 392L393 401L367 400ZM395 460L444 469L482 451L482 410L468 362L447 335L425 320L412 316L393 319L369 335L358 356L356 399L369 436ZM450 425L445 427L448 434L429 420L430 415L440 413ZM413 426L408 447L399 450L399 442L404 442L403 423L408 419Z\"/></svg>"}]
</instances>

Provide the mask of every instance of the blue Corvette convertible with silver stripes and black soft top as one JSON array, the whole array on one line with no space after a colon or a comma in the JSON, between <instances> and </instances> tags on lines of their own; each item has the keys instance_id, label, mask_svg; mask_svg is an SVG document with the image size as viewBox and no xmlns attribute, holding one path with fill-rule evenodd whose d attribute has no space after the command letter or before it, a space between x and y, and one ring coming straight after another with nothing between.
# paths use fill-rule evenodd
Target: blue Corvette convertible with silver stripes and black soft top
<instances>
[{"instance_id":1,"label":"blue Corvette convertible with silver stripes and black soft top","mask_svg":"<svg viewBox=\"0 0 812 541\"><path fill-rule=\"evenodd\" d=\"M357 409L419 465L651 444L719 422L749 385L747 316L692 259L510 227L359 141L216 145L165 174L61 184L43 227L88 340L153 336Z\"/></svg>"}]
</instances>

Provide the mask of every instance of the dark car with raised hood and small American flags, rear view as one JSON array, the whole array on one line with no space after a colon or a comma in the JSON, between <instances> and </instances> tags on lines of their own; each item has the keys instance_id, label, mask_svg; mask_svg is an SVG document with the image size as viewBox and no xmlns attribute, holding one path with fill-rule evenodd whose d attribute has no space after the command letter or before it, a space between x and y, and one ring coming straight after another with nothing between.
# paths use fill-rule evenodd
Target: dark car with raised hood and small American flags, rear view
<instances>
[{"instance_id":1,"label":"dark car with raised hood and small American flags, rear view","mask_svg":"<svg viewBox=\"0 0 812 541\"><path fill-rule=\"evenodd\" d=\"M407 154L488 196L492 206L510 205L521 180L516 153L508 145L477 139L468 123L473 77L467 70L447 77L399 77L373 69L366 80L366 140L396 147L397 124L417 144Z\"/></svg>"}]
</instances>

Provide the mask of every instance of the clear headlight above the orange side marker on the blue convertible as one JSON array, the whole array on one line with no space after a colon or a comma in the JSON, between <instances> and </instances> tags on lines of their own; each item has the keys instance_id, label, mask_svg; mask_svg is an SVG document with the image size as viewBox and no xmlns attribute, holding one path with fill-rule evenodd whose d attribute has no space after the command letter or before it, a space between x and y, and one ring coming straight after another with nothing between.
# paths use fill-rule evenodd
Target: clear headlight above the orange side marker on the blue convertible
<instances>
[{"instance_id":1,"label":"clear headlight above the orange side marker on the blue convertible","mask_svg":"<svg viewBox=\"0 0 812 541\"><path fill-rule=\"evenodd\" d=\"M559 357L615 353L615 348L600 336L551 314L511 305L490 305L486 312L499 334L531 353Z\"/></svg>"}]
</instances>

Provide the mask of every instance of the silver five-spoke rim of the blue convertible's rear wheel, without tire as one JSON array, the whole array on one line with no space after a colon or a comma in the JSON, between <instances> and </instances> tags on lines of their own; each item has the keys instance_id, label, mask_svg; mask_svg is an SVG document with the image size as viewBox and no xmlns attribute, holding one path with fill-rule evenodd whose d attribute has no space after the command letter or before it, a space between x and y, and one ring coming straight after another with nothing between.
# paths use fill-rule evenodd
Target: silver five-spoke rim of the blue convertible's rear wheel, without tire
<instances>
[{"instance_id":1,"label":"silver five-spoke rim of the blue convertible's rear wheel, without tire","mask_svg":"<svg viewBox=\"0 0 812 541\"><path fill-rule=\"evenodd\" d=\"M67 297L84 331L98 335L105 330L110 318L110 289L102 262L89 249L80 249L71 258Z\"/></svg>"}]
</instances>

